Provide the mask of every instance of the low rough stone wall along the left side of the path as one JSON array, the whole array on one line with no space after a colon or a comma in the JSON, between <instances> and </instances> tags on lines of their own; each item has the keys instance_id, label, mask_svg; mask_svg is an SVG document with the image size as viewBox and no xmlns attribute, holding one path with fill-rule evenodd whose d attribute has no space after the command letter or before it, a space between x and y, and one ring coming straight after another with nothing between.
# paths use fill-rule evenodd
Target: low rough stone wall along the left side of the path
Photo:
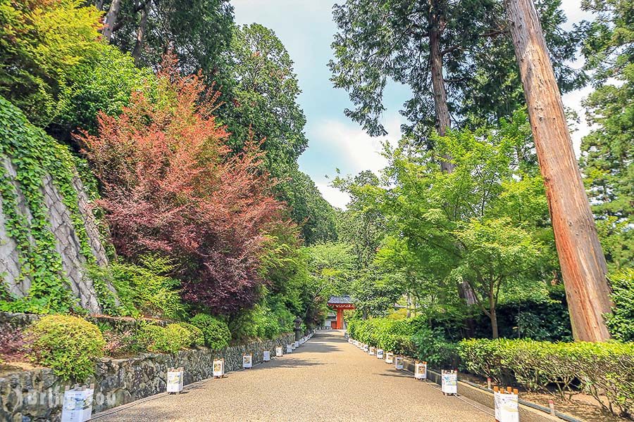
<instances>
[{"instance_id":1,"label":"low rough stone wall along the left side of the path","mask_svg":"<svg viewBox=\"0 0 634 422\"><path fill-rule=\"evenodd\" d=\"M127 359L103 358L95 365L93 413L165 392L166 372L170 367L185 369L185 385L211 378L213 359L225 359L225 371L242 369L242 355L253 354L253 364L263 360L263 351L286 345L293 334L282 335L247 345L227 347L219 352L206 348L184 350L178 354L144 353ZM64 391L51 369L10 373L0 378L0 421L59 421Z\"/></svg>"}]
</instances>

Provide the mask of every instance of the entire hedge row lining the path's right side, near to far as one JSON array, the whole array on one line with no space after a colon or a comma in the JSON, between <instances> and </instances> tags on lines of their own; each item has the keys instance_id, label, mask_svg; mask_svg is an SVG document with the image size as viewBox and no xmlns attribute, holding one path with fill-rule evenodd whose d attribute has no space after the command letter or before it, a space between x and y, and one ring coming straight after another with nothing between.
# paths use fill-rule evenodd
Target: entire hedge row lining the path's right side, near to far
<instances>
[{"instance_id":1,"label":"entire hedge row lining the path's right side, near to far","mask_svg":"<svg viewBox=\"0 0 634 422\"><path fill-rule=\"evenodd\" d=\"M604 409L634 416L634 343L504 338L452 343L442 328L418 319L353 319L347 331L362 343L425 360L437 369L461 367L500 385L555 390L564 399L583 390Z\"/></svg>"}]
</instances>

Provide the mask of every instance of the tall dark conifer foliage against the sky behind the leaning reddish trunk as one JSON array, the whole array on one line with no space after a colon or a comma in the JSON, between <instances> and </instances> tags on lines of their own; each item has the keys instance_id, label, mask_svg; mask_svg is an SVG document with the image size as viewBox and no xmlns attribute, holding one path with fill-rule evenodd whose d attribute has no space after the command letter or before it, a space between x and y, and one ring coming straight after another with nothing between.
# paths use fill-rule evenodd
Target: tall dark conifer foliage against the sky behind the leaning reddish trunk
<instances>
[{"instance_id":1,"label":"tall dark conifer foliage against the sky behind the leaning reddish trunk","mask_svg":"<svg viewBox=\"0 0 634 422\"><path fill-rule=\"evenodd\" d=\"M568 91L580 75L563 63L574 58L578 39L561 30L559 4L540 2L540 19L559 85ZM510 117L523 96L503 15L499 0L347 0L335 6L339 32L329 65L335 87L348 91L354 104L346 115L372 136L385 134L383 92L392 80L411 89L401 110L404 129L428 146L434 127L442 135L450 126Z\"/></svg>"}]
</instances>

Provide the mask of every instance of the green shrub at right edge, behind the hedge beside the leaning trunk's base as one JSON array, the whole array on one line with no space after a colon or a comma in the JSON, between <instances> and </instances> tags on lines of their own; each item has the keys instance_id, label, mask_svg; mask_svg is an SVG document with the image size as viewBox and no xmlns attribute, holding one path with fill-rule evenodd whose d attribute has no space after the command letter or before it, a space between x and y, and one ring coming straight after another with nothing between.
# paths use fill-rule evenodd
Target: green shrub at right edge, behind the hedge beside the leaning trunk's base
<instances>
[{"instance_id":1,"label":"green shrub at right edge, behind the hedge beside the leaning trunk's base","mask_svg":"<svg viewBox=\"0 0 634 422\"><path fill-rule=\"evenodd\" d=\"M634 269L626 268L609 276L612 286L612 313L607 326L617 340L634 341Z\"/></svg>"}]
</instances>

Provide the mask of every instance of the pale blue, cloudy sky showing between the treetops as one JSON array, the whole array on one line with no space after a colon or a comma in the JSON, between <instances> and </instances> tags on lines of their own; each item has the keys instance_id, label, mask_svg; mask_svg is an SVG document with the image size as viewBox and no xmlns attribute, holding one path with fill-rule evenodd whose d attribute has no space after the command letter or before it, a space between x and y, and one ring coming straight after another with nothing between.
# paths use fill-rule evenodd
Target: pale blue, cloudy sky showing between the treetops
<instances>
[{"instance_id":1,"label":"pale blue, cloudy sky showing between the treetops","mask_svg":"<svg viewBox=\"0 0 634 422\"><path fill-rule=\"evenodd\" d=\"M357 174L362 170L378 172L386 164L380 155L383 141L398 141L399 127L404 119L398 111L408 98L405 87L389 85L385 91L385 114L383 124L387 136L373 138L344 115L344 109L351 107L348 94L343 89L335 89L330 82L328 60L332 58L330 44L337 31L332 22L332 5L341 3L331 0L233 0L235 20L238 25L259 23L271 28L282 41L294 62L294 70L299 79L302 94L299 105L306 114L306 136L309 146L299 158L299 168L315 181L323 197L335 207L344 208L348 197L332 188L330 181L337 174ZM578 0L562 0L561 7L568 22L590 20L592 15L580 10ZM579 58L571 63L574 68L583 65ZM585 87L563 96L564 105L577 111L581 118L573 145L579 151L581 138L588 133L583 120L582 98L590 94Z\"/></svg>"}]
</instances>

